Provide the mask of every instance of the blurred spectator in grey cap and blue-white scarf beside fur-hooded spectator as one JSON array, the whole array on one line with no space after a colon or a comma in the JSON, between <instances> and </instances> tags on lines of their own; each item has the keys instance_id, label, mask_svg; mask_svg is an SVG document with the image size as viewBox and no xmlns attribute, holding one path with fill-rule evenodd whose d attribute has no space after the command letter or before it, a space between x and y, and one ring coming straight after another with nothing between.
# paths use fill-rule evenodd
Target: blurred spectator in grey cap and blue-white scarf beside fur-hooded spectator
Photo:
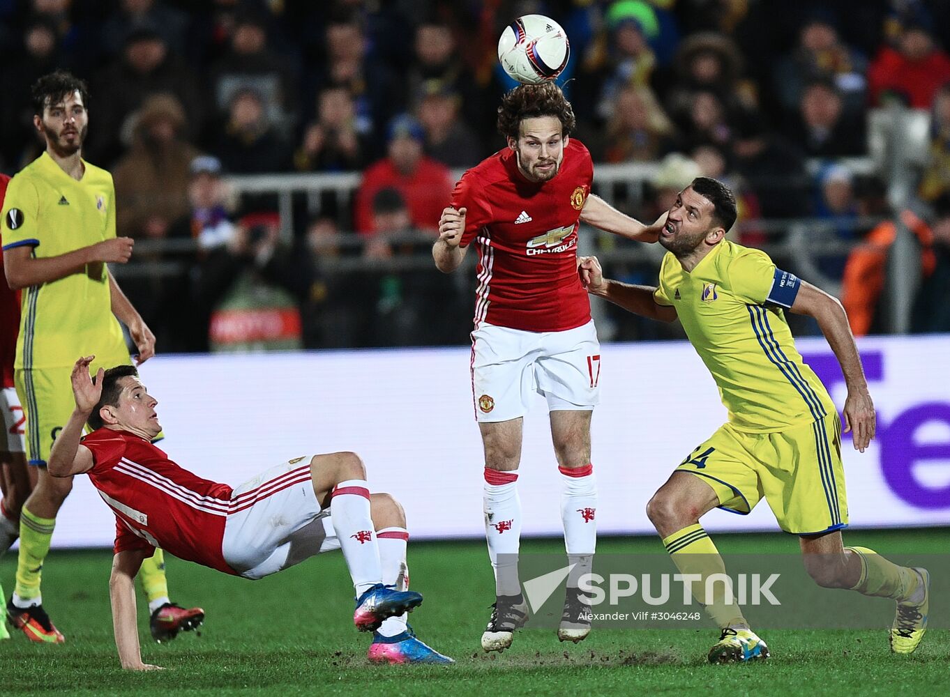
<instances>
[{"instance_id":1,"label":"blurred spectator in grey cap and blue-white scarf beside fur-hooded spectator","mask_svg":"<svg viewBox=\"0 0 950 697\"><path fill-rule=\"evenodd\" d=\"M191 160L188 171L188 212L173 223L169 235L192 238L201 252L228 244L235 234L229 193L221 180L221 162L212 155Z\"/></svg>"}]
</instances>

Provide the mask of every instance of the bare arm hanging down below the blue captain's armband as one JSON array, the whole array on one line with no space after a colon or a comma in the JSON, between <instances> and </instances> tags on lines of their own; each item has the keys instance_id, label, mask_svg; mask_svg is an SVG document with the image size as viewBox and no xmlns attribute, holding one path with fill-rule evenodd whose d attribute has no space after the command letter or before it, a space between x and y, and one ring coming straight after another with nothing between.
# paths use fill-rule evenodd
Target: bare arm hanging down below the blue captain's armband
<instances>
[{"instance_id":1,"label":"bare arm hanging down below the blue captain's armband","mask_svg":"<svg viewBox=\"0 0 950 697\"><path fill-rule=\"evenodd\" d=\"M838 298L829 295L820 288L802 281L802 287L795 296L791 311L796 314L807 314L814 317L822 333L825 334L828 346L834 351L841 370L845 374L847 399L845 399L845 433L853 431L852 439L856 450L864 452L864 448L874 438L877 428L874 402L867 389L867 380L864 378L864 368L861 366L861 356L854 343L854 335L847 322L845 308Z\"/></svg>"}]
</instances>

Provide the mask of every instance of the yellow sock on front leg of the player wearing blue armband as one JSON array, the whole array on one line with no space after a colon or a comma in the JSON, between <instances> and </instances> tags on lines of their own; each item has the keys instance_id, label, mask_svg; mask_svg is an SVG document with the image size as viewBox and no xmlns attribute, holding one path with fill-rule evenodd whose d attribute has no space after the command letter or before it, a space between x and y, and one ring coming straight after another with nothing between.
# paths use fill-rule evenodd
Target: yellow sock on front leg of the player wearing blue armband
<instances>
[{"instance_id":1,"label":"yellow sock on front leg of the player wearing blue armband","mask_svg":"<svg viewBox=\"0 0 950 697\"><path fill-rule=\"evenodd\" d=\"M710 597L706 596L706 579L712 575L725 577L726 565L702 525L696 523L677 530L663 538L663 545L681 574L701 577L699 583L693 583L693 597L706 606L707 614L717 627L749 626L732 596L731 587L727 590L725 583L714 581Z\"/></svg>"}]
</instances>

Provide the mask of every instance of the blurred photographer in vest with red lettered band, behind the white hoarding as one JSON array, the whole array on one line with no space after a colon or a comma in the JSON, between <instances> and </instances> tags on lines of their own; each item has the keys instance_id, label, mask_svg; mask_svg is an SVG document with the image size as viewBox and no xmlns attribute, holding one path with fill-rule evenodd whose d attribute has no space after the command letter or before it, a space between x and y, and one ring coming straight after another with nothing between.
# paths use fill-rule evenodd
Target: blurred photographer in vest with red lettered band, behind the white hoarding
<instances>
[{"instance_id":1,"label":"blurred photographer in vest with red lettered band, behind the white hoarding","mask_svg":"<svg viewBox=\"0 0 950 697\"><path fill-rule=\"evenodd\" d=\"M201 262L198 302L211 309L212 351L302 348L300 310L286 269L293 254L279 242L280 219L253 214L240 219L235 235Z\"/></svg>"}]
</instances>

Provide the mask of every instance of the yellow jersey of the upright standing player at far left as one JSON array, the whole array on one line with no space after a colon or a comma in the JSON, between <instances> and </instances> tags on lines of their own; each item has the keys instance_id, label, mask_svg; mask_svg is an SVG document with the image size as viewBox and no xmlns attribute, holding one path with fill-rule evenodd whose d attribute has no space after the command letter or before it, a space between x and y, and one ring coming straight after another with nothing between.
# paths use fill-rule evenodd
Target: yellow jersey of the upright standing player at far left
<instances>
[{"instance_id":1,"label":"yellow jersey of the upright standing player at far left","mask_svg":"<svg viewBox=\"0 0 950 697\"><path fill-rule=\"evenodd\" d=\"M5 250L28 245L35 257L57 256L115 235L112 175L104 169L85 162L77 181L44 152L10 179L3 209ZM16 368L69 367L90 353L128 361L103 263L24 289Z\"/></svg>"}]
</instances>

